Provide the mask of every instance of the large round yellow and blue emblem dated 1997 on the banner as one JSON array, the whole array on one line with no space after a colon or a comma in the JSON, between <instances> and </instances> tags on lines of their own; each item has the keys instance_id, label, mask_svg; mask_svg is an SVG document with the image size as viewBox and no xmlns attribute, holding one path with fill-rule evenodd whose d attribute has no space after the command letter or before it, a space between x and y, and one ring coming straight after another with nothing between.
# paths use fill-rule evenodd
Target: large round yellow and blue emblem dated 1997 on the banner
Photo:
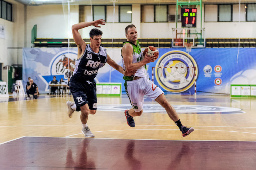
<instances>
[{"instance_id":1,"label":"large round yellow and blue emblem dated 1997 on the banner","mask_svg":"<svg viewBox=\"0 0 256 170\"><path fill-rule=\"evenodd\" d=\"M169 92L184 92L190 89L198 75L198 69L194 70L194 67L197 68L195 59L179 50L163 54L155 67L159 86Z\"/></svg>"}]
</instances>

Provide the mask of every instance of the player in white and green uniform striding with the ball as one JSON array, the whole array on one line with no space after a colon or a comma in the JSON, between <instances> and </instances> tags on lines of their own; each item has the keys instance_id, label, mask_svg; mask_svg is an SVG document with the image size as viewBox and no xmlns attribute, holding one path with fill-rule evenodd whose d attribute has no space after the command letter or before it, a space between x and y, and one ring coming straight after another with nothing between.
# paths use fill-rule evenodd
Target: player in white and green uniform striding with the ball
<instances>
[{"instance_id":1,"label":"player in white and green uniform striding with the ball","mask_svg":"<svg viewBox=\"0 0 256 170\"><path fill-rule=\"evenodd\" d=\"M177 112L166 100L163 91L150 81L146 74L146 64L154 62L157 57L155 57L155 55L148 57L146 56L147 54L143 56L143 51L141 50L139 41L137 40L137 30L133 24L128 25L125 28L125 36L127 41L123 43L121 50L123 68L128 71L137 70L134 75L123 77L125 80L125 91L132 105L131 109L124 112L127 124L131 127L135 127L133 117L142 115L144 102L143 97L146 95L157 101L157 103L161 104L161 106L165 108L170 119L172 119L180 128L183 137L189 135L194 131L194 129L192 127L185 127L181 124Z\"/></svg>"}]
</instances>

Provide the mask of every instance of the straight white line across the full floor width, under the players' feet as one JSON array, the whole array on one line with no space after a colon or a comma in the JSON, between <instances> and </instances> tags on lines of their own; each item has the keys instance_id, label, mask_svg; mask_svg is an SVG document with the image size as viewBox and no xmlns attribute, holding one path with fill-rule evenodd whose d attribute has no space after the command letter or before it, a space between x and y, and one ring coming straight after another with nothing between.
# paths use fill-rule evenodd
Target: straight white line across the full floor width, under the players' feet
<instances>
[{"instance_id":1,"label":"straight white line across the full floor width, under the players' feet","mask_svg":"<svg viewBox=\"0 0 256 170\"><path fill-rule=\"evenodd\" d=\"M81 126L80 124L57 124L57 125L13 125L13 126L0 126L0 127L40 127L40 126ZM90 126L127 126L127 124L91 124ZM174 126L177 125L137 125L136 126ZM256 127L240 127L240 126L197 126L186 125L189 127L231 127L231 128L256 128Z\"/></svg>"}]
</instances>

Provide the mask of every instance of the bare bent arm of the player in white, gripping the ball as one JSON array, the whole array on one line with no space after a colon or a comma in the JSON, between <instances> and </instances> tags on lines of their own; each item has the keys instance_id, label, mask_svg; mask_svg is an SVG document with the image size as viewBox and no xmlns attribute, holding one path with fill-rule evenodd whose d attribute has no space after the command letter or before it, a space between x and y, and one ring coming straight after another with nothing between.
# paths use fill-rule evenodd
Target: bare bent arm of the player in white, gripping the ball
<instances>
[{"instance_id":1,"label":"bare bent arm of the player in white, gripping the ball","mask_svg":"<svg viewBox=\"0 0 256 170\"><path fill-rule=\"evenodd\" d=\"M147 63L154 61L154 55L152 56L144 56L144 59L137 63L132 63L132 53L133 53L133 47L131 44L127 43L122 48L122 56L124 59L124 65L125 69L128 72L131 72L132 70L137 70L140 67L144 66Z\"/></svg>"}]
</instances>

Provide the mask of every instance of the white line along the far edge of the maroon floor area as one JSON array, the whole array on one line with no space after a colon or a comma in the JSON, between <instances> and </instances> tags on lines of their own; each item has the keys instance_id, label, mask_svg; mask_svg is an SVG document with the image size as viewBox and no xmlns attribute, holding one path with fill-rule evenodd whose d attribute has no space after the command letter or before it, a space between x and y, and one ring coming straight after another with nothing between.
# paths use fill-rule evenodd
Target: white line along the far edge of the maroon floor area
<instances>
[{"instance_id":1,"label":"white line along the far edge of the maroon floor area","mask_svg":"<svg viewBox=\"0 0 256 170\"><path fill-rule=\"evenodd\" d=\"M82 133L80 133L82 134ZM38 137L38 138L68 138L68 137L57 137L57 136L23 136L23 137ZM78 138L71 137L74 139L124 139L124 140L171 140L171 141L220 141L220 142L256 142L256 140L174 140L174 139L126 139L126 138Z\"/></svg>"}]
</instances>

